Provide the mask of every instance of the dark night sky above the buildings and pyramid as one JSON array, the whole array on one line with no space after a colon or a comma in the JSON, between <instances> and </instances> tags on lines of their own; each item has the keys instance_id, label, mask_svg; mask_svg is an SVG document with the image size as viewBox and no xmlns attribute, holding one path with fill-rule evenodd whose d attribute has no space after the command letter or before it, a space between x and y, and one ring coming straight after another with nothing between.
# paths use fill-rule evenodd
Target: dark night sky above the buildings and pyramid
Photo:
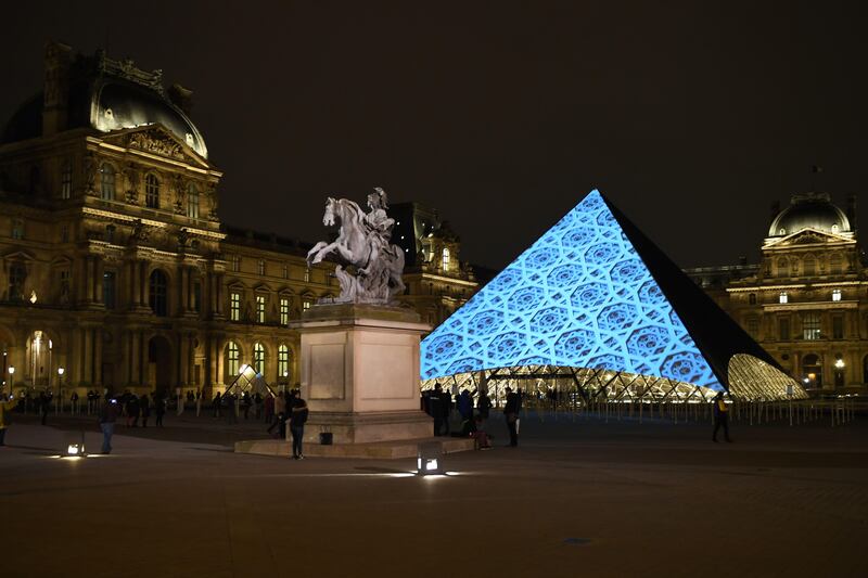
<instances>
[{"instance_id":1,"label":"dark night sky above the buildings and pyramid","mask_svg":"<svg viewBox=\"0 0 868 578\"><path fill-rule=\"evenodd\" d=\"M263 231L323 237L327 194L380 185L502 267L599 188L679 265L731 264L812 165L841 206L868 181L857 2L18 4L1 117L47 39L107 43L195 91L221 218Z\"/></svg>"}]
</instances>

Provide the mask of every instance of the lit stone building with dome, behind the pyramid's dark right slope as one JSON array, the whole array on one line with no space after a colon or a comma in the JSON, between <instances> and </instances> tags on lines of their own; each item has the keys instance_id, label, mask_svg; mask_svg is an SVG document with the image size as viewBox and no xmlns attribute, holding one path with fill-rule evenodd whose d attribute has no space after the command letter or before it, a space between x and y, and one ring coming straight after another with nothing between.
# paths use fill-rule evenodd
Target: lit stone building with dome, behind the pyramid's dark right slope
<instances>
[{"instance_id":1,"label":"lit stone building with dome, behind the pyramid's dark right slope","mask_svg":"<svg viewBox=\"0 0 868 578\"><path fill-rule=\"evenodd\" d=\"M687 271L814 396L868 393L868 278L856 201L828 193L773 206L758 265Z\"/></svg>"}]
</instances>

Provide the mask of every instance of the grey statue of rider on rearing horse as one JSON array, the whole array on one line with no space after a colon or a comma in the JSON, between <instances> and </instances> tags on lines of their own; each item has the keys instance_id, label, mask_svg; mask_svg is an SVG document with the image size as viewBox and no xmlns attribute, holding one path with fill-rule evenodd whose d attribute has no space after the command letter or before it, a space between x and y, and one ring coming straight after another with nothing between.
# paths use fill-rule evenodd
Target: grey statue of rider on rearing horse
<instances>
[{"instance_id":1,"label":"grey statue of rider on rearing horse","mask_svg":"<svg viewBox=\"0 0 868 578\"><path fill-rule=\"evenodd\" d=\"M331 303L388 305L404 292L404 252L390 243L395 219L386 216L388 198L379 187L368 195L369 213L346 198L329 197L322 224L340 226L337 239L320 241L307 254L308 266L332 256L341 295Z\"/></svg>"}]
</instances>

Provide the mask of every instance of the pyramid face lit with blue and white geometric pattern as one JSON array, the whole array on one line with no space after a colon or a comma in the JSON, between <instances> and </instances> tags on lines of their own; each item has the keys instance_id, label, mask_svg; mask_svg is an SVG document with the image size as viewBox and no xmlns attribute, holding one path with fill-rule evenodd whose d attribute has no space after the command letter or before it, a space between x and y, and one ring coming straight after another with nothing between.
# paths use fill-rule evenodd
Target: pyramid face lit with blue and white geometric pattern
<instances>
[{"instance_id":1,"label":"pyramid face lit with blue and white geometric pattern","mask_svg":"<svg viewBox=\"0 0 868 578\"><path fill-rule=\"evenodd\" d=\"M422 342L423 380L524 365L723 389L597 191Z\"/></svg>"}]
</instances>

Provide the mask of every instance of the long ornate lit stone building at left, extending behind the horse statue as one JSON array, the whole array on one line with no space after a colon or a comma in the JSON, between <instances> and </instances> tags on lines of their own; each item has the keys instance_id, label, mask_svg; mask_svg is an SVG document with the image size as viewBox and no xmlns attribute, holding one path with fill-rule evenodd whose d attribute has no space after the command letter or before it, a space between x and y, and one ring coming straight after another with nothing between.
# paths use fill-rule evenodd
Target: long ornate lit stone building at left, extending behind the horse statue
<instances>
[{"instance_id":1,"label":"long ornate lit stone building at left, extending behind the horse statue","mask_svg":"<svg viewBox=\"0 0 868 578\"><path fill-rule=\"evenodd\" d=\"M289 327L340 290L312 244L226 226L222 172L159 70L46 47L44 87L0 139L0 350L16 388L224 389L298 378ZM436 213L396 205L401 297L437 324L475 292ZM319 217L319 216L317 216Z\"/></svg>"}]
</instances>

